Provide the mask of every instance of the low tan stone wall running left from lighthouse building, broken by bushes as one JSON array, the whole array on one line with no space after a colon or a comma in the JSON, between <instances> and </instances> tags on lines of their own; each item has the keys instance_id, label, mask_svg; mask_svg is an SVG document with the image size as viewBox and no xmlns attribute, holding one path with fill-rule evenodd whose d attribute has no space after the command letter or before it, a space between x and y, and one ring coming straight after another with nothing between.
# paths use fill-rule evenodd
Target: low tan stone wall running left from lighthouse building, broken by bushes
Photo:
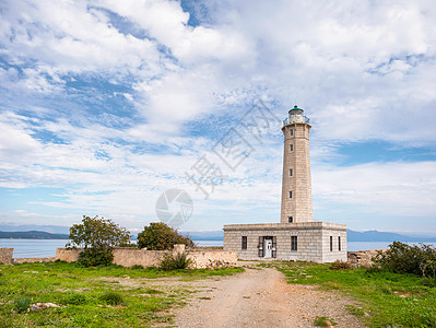
<instances>
[{"instance_id":1,"label":"low tan stone wall running left from lighthouse building, broken by bushes","mask_svg":"<svg viewBox=\"0 0 436 328\"><path fill-rule=\"evenodd\" d=\"M56 259L72 262L76 261L83 248L56 249ZM175 245L173 253L184 253L185 245ZM114 263L123 267L143 266L157 267L166 250L146 250L137 248L115 248ZM188 258L191 260L191 269L215 269L228 268L237 265L237 253L223 250L219 247L199 247L187 249Z\"/></svg>"}]
</instances>

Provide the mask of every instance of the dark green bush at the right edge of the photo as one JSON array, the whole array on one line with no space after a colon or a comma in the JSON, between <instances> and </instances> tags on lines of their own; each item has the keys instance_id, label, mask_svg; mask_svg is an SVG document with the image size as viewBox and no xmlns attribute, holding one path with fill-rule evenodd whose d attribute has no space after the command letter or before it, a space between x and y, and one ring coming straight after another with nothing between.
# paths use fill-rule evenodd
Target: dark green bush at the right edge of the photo
<instances>
[{"instance_id":1,"label":"dark green bush at the right edge of the photo","mask_svg":"<svg viewBox=\"0 0 436 328\"><path fill-rule=\"evenodd\" d=\"M387 251L379 251L373 260L381 269L396 273L436 278L436 249L431 245L410 246L393 242Z\"/></svg>"}]
</instances>

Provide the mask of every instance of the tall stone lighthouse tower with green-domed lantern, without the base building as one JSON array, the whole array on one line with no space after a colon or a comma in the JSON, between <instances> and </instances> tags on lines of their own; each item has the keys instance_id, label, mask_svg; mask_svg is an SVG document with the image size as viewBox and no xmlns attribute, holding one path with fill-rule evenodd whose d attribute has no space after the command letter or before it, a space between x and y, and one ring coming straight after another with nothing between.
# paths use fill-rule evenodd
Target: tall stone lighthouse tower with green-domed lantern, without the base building
<instances>
[{"instance_id":1,"label":"tall stone lighthouse tower with green-domed lantern, without the base building","mask_svg":"<svg viewBox=\"0 0 436 328\"><path fill-rule=\"evenodd\" d=\"M294 106L283 121L281 223L313 222L309 119Z\"/></svg>"}]
</instances>

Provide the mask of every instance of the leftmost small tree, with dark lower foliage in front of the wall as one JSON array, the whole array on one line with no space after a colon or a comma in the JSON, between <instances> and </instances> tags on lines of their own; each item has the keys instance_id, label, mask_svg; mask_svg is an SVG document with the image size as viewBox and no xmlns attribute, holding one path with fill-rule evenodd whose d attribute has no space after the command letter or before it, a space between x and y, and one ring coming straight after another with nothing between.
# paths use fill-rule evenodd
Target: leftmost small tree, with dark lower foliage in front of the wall
<instances>
[{"instance_id":1,"label":"leftmost small tree, with dark lower foliage in front of the wall","mask_svg":"<svg viewBox=\"0 0 436 328\"><path fill-rule=\"evenodd\" d=\"M79 255L79 262L85 267L107 266L114 259L116 246L130 243L130 233L109 219L83 215L82 224L70 227L71 242L67 248L84 247Z\"/></svg>"}]
</instances>

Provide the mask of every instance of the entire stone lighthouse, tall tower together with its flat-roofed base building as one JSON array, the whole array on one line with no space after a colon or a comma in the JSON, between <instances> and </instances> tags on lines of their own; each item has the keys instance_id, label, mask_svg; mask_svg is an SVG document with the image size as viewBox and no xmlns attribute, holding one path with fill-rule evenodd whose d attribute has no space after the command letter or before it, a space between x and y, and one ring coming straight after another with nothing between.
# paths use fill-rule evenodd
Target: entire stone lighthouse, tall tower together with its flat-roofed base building
<instances>
[{"instance_id":1,"label":"entire stone lighthouse, tall tower together with its flat-roofed base building","mask_svg":"<svg viewBox=\"0 0 436 328\"><path fill-rule=\"evenodd\" d=\"M224 249L239 259L346 261L346 225L314 222L309 119L295 106L283 121L280 223L224 225Z\"/></svg>"}]
</instances>

